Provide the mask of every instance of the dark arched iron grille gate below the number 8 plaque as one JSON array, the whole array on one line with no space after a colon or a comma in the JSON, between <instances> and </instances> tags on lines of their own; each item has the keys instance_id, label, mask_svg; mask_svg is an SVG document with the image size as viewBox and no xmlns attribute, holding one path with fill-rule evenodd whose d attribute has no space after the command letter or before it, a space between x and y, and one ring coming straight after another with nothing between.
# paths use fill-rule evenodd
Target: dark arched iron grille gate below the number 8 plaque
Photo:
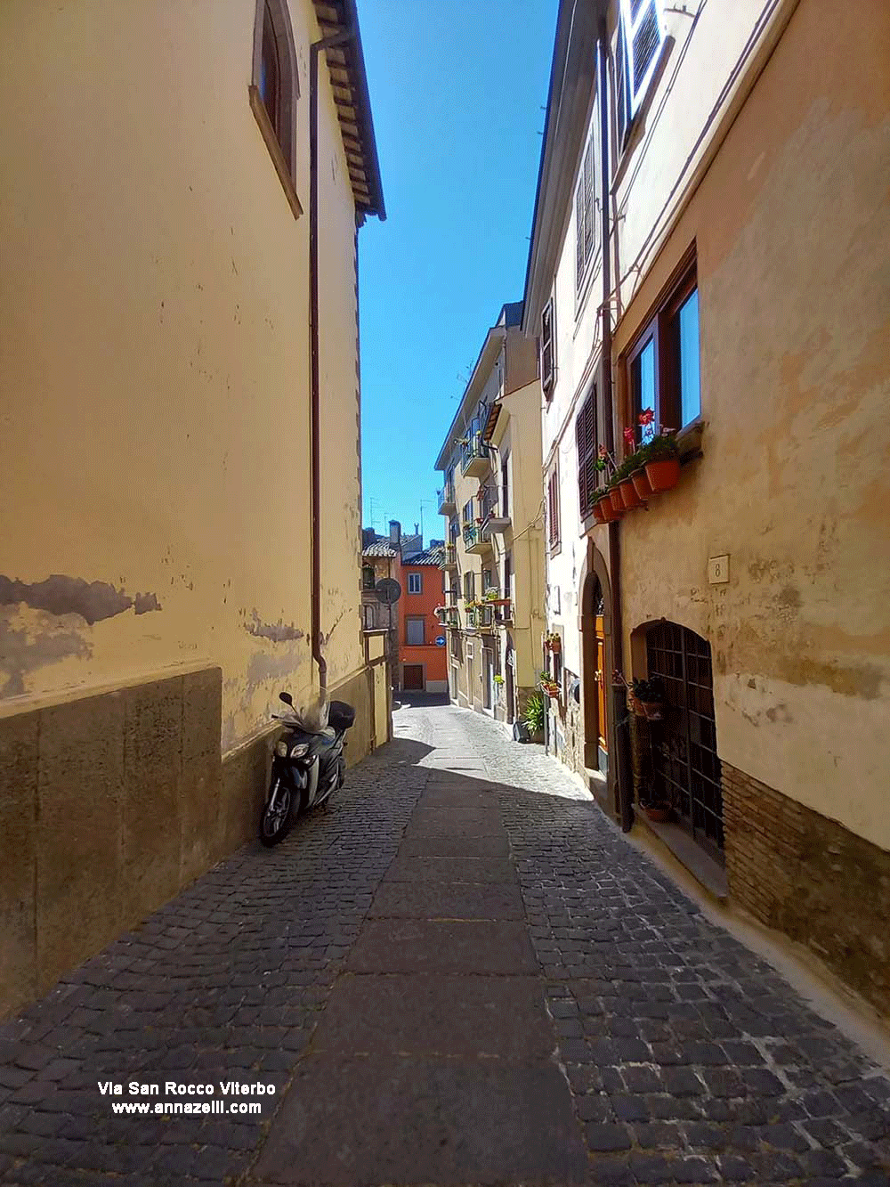
<instances>
[{"instance_id":1,"label":"dark arched iron grille gate below the number 8 plaque","mask_svg":"<svg viewBox=\"0 0 890 1187\"><path fill-rule=\"evenodd\" d=\"M646 635L649 677L661 677L666 704L653 737L655 787L680 824L723 861L723 791L717 756L711 646L674 622Z\"/></svg>"}]
</instances>

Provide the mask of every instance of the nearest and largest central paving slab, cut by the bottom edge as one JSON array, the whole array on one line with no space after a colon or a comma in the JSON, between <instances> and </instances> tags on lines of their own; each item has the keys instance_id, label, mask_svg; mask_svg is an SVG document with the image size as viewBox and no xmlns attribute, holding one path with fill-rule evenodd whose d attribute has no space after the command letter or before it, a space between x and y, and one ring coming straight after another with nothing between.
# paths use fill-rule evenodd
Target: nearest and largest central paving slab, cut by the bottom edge
<instances>
[{"instance_id":1,"label":"nearest and largest central paving slab, cut by the bottom edge","mask_svg":"<svg viewBox=\"0 0 890 1187\"><path fill-rule=\"evenodd\" d=\"M310 1056L254 1176L271 1183L584 1183L553 1065Z\"/></svg>"}]
</instances>

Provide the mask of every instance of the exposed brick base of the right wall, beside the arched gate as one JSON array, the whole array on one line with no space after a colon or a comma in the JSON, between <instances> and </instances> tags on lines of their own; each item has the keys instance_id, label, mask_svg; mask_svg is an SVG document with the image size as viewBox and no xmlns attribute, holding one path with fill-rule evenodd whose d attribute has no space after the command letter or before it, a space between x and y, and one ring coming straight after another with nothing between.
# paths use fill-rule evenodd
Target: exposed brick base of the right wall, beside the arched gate
<instances>
[{"instance_id":1,"label":"exposed brick base of the right wall, beside the arched gate","mask_svg":"<svg viewBox=\"0 0 890 1187\"><path fill-rule=\"evenodd\" d=\"M890 1017L890 853L723 763L731 900Z\"/></svg>"}]
</instances>

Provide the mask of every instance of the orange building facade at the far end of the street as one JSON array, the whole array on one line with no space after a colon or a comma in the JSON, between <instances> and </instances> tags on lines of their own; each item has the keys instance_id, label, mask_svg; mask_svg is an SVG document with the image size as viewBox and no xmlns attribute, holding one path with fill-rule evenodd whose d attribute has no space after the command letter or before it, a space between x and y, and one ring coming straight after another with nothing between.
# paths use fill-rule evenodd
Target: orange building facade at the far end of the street
<instances>
[{"instance_id":1,"label":"orange building facade at the far end of the street","mask_svg":"<svg viewBox=\"0 0 890 1187\"><path fill-rule=\"evenodd\" d=\"M399 564L399 683L405 692L447 692L445 629L436 608L445 602L443 547ZM437 642L441 640L441 642Z\"/></svg>"}]
</instances>

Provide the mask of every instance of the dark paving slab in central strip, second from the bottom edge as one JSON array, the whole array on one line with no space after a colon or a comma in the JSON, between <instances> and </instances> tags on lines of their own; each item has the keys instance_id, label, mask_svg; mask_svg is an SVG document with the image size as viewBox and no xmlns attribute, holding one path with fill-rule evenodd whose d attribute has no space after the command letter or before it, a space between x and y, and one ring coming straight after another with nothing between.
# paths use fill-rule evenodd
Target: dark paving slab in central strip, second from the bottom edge
<instances>
[{"instance_id":1,"label":"dark paving slab in central strip, second from the bottom edge","mask_svg":"<svg viewBox=\"0 0 890 1187\"><path fill-rule=\"evenodd\" d=\"M313 1053L384 1052L547 1060L555 1043L536 977L345 975Z\"/></svg>"}]
</instances>

